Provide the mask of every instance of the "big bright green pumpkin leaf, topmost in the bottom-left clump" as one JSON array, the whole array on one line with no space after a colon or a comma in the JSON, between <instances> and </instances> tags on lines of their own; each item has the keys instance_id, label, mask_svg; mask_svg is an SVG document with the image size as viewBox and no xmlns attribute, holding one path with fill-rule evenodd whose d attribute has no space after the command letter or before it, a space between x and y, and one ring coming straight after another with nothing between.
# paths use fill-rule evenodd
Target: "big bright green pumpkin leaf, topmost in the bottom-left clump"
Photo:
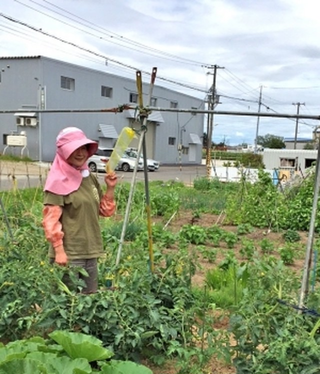
<instances>
[{"instance_id":1,"label":"big bright green pumpkin leaf, topmost in the bottom-left clump","mask_svg":"<svg viewBox=\"0 0 320 374\"><path fill-rule=\"evenodd\" d=\"M94 336L62 330L53 331L49 336L59 343L71 358L82 357L90 362L113 356L110 350L102 347L102 341Z\"/></svg>"}]
</instances>

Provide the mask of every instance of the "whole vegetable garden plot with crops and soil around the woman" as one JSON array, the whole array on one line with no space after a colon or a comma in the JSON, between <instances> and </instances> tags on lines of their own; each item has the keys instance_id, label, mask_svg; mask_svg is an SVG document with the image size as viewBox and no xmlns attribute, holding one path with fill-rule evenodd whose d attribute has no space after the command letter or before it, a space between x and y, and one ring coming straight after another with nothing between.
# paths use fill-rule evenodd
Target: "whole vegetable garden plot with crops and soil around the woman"
<instances>
[{"instance_id":1,"label":"whole vegetable garden plot with crops and soil around the woman","mask_svg":"<svg viewBox=\"0 0 320 374\"><path fill-rule=\"evenodd\" d=\"M295 209L289 218L303 224L305 202L311 196L307 184L285 199L263 179L252 186L206 180L198 180L194 188L174 182L150 184L153 275L148 271L140 185L119 268L112 266L129 190L121 184L116 220L101 221L106 254L99 264L100 291L94 295L76 292L81 287L76 282L74 289L65 289L59 281L61 269L47 263L41 191L1 193L14 238L12 242L1 217L1 340L79 331L99 338L115 359L147 357L156 362L160 368L152 364L154 373L163 373L167 357L174 359L175 372L214 372L218 364L211 358L217 356L221 373L224 360L233 361L234 367L230 371L225 364L225 372L317 372L317 317L299 315L277 301L296 303L305 232L276 214L281 204L293 209L300 199L303 210ZM229 233L234 234L232 240ZM290 241L296 239L294 233L300 239ZM293 252L292 265L281 260L279 248L285 245ZM214 269L219 269L218 277L206 278ZM111 289L105 285L110 272ZM320 297L316 282L317 278L307 300L315 310ZM215 329L225 315L228 329Z\"/></svg>"}]
</instances>

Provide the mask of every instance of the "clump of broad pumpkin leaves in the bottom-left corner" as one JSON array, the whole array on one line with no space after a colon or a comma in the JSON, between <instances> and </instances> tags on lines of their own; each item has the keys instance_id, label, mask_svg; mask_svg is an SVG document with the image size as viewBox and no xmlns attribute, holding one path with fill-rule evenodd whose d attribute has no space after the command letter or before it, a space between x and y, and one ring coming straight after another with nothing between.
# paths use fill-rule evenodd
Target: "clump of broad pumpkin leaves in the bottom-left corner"
<instances>
[{"instance_id":1,"label":"clump of broad pumpkin leaves in the bottom-left corner","mask_svg":"<svg viewBox=\"0 0 320 374\"><path fill-rule=\"evenodd\" d=\"M144 365L110 358L113 353L102 347L93 336L77 332L53 331L49 334L57 344L39 336L15 340L0 347L0 373L61 374L69 372L97 374L152 374ZM108 360L107 360L108 359ZM91 366L90 363L94 364Z\"/></svg>"}]
</instances>

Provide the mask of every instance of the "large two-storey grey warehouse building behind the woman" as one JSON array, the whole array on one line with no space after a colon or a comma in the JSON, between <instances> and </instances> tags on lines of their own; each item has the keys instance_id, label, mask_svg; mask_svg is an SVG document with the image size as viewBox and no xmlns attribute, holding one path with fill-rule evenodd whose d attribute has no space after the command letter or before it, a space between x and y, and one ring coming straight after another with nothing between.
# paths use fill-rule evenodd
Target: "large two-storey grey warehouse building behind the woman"
<instances>
[{"instance_id":1,"label":"large two-storey grey warehouse building behind the woman","mask_svg":"<svg viewBox=\"0 0 320 374\"><path fill-rule=\"evenodd\" d=\"M148 83L143 82L144 103ZM55 154L55 137L67 126L79 127L100 147L113 147L124 126L140 129L134 110L116 114L59 110L100 110L123 104L134 107L137 102L135 77L123 78L43 56L0 57L0 110L10 111L0 115L0 152L50 162ZM203 110L204 101L155 82L151 107ZM203 117L199 113L151 112L146 132L147 157L163 164L200 164ZM137 139L132 146L136 145Z\"/></svg>"}]
</instances>

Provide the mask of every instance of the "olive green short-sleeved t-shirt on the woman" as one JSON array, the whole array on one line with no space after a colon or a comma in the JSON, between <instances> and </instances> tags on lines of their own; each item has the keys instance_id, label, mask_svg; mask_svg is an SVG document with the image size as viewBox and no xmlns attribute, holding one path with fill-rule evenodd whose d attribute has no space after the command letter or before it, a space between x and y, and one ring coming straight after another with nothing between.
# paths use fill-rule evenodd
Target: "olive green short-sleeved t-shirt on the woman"
<instances>
[{"instance_id":1,"label":"olive green short-sleeved t-shirt on the woman","mask_svg":"<svg viewBox=\"0 0 320 374\"><path fill-rule=\"evenodd\" d=\"M99 226L99 205L102 189L94 175L82 178L80 187L69 195L44 192L45 205L62 207L63 247L69 259L96 258L103 254ZM52 246L49 257L54 258Z\"/></svg>"}]
</instances>

